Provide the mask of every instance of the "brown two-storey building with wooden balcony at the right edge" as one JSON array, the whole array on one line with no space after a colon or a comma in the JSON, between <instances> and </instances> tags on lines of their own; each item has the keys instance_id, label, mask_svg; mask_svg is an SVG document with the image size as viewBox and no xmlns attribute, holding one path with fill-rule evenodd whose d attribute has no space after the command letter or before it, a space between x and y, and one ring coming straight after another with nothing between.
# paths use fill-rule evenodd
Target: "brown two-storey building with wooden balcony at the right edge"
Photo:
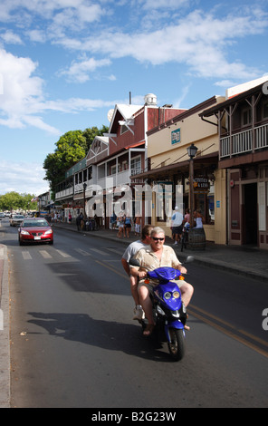
<instances>
[{"instance_id":1,"label":"brown two-storey building with wooden balcony at the right edge","mask_svg":"<svg viewBox=\"0 0 268 426\"><path fill-rule=\"evenodd\" d=\"M232 88L225 102L203 111L201 118L211 124L214 118L217 123L218 166L226 173L228 244L268 249L266 80Z\"/></svg>"}]
</instances>

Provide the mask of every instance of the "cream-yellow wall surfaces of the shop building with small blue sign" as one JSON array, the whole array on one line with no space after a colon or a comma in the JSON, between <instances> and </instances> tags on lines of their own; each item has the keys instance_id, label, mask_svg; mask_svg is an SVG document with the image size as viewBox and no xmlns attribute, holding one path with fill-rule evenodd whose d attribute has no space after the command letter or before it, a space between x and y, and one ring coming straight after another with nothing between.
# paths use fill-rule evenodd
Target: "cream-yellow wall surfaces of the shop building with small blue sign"
<instances>
[{"instance_id":1,"label":"cream-yellow wall surfaces of the shop building with small blue sign","mask_svg":"<svg viewBox=\"0 0 268 426\"><path fill-rule=\"evenodd\" d=\"M223 102L225 98L218 98L218 102ZM197 147L196 155L209 155L218 152L219 138L217 127L213 124L202 121L199 117L200 111L177 121L177 125L148 135L148 157L151 160L151 169L168 166L177 161L188 160L187 147L194 143ZM216 123L215 118L210 121ZM172 145L171 131L180 129L180 142ZM226 231L226 203L225 203L225 170L215 169L215 224L205 225L206 240L215 241L216 244L225 244ZM166 235L171 237L170 221L166 224L158 222L153 210L152 224L164 228Z\"/></svg>"}]
</instances>

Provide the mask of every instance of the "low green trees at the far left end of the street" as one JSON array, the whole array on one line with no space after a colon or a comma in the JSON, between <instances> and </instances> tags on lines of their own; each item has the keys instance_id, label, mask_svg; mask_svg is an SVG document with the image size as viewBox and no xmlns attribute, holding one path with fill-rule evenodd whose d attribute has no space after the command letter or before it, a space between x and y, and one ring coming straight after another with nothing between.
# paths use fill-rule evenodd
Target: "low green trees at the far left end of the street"
<instances>
[{"instance_id":1,"label":"low green trees at the far left end of the street","mask_svg":"<svg viewBox=\"0 0 268 426\"><path fill-rule=\"evenodd\" d=\"M32 194L19 194L18 192L7 192L5 195L0 196L0 210L36 210L37 202L31 202L34 198Z\"/></svg>"}]
</instances>

